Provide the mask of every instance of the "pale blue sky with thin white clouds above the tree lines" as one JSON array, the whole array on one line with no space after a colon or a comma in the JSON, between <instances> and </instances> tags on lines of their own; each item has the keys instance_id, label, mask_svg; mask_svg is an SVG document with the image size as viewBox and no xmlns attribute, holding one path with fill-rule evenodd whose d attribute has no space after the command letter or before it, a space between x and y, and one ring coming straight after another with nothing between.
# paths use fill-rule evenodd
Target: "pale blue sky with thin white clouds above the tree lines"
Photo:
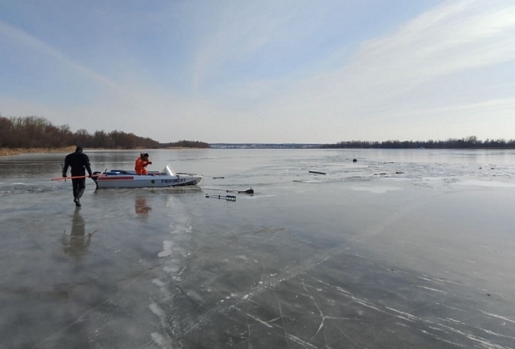
<instances>
[{"instance_id":1,"label":"pale blue sky with thin white clouds above the tree lines","mask_svg":"<svg viewBox=\"0 0 515 349\"><path fill-rule=\"evenodd\" d=\"M0 0L0 114L159 142L515 138L513 0Z\"/></svg>"}]
</instances>

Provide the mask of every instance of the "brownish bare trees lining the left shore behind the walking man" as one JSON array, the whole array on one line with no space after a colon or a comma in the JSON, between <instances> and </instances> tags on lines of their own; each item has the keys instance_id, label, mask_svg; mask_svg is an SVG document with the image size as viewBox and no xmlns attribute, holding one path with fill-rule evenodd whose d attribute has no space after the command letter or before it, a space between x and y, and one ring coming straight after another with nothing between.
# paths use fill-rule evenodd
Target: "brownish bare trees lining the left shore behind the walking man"
<instances>
[{"instance_id":1,"label":"brownish bare trees lining the left shore behind the walking man","mask_svg":"<svg viewBox=\"0 0 515 349\"><path fill-rule=\"evenodd\" d=\"M164 147L201 147L209 144L181 140L174 143L159 143L149 137L139 137L122 131L97 130L88 133L80 129L72 132L68 125L56 126L46 118L37 116L0 116L0 147L3 148L59 148L81 145L87 148L105 149L158 149Z\"/></svg>"}]
</instances>

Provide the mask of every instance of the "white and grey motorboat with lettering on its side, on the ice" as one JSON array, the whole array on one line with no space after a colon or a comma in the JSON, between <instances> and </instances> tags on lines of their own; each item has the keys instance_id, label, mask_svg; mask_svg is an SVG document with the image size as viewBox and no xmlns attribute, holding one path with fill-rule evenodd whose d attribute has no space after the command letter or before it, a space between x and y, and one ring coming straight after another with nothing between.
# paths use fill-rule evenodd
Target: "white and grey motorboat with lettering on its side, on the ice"
<instances>
[{"instance_id":1,"label":"white and grey motorboat with lettering on its side, on the ice","mask_svg":"<svg viewBox=\"0 0 515 349\"><path fill-rule=\"evenodd\" d=\"M94 172L97 189L104 188L168 188L197 185L204 178L195 173L176 173L169 165L161 172L138 175L135 171L111 170Z\"/></svg>"}]
</instances>

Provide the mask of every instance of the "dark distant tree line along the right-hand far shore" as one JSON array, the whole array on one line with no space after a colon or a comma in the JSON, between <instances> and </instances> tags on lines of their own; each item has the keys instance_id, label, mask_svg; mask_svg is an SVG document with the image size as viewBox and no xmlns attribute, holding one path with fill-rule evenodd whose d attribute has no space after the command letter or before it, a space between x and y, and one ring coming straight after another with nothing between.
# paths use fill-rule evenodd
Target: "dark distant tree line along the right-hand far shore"
<instances>
[{"instance_id":1,"label":"dark distant tree line along the right-hand far shore","mask_svg":"<svg viewBox=\"0 0 515 349\"><path fill-rule=\"evenodd\" d=\"M515 149L515 140L478 140L478 137L469 136L461 139L449 138L448 140L387 140L384 142L368 142L363 140L350 140L336 144L322 145L322 148L360 148L360 149L466 149L466 148L497 148Z\"/></svg>"}]
</instances>

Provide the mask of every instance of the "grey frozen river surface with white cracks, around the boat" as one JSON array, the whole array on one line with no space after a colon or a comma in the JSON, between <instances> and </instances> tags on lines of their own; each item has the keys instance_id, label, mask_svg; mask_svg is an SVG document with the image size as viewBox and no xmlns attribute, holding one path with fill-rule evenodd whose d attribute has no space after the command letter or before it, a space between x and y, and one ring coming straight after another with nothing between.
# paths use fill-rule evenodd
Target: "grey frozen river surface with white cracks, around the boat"
<instances>
[{"instance_id":1,"label":"grey frozen river surface with white cracks, around the boat","mask_svg":"<svg viewBox=\"0 0 515 349\"><path fill-rule=\"evenodd\" d=\"M514 151L147 152L0 158L0 348L515 348Z\"/></svg>"}]
</instances>

